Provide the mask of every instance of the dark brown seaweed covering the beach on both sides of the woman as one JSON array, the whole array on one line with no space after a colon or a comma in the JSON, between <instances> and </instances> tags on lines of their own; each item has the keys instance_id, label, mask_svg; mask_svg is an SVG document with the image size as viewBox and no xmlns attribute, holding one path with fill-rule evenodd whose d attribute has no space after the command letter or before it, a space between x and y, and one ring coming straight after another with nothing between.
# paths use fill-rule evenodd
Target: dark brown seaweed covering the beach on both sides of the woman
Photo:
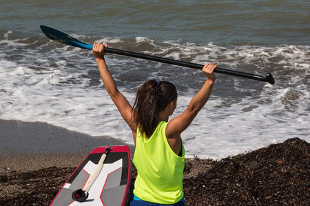
<instances>
[{"instance_id":1,"label":"dark brown seaweed covering the beach on both sides of the woman","mask_svg":"<svg viewBox=\"0 0 310 206\"><path fill-rule=\"evenodd\" d=\"M221 161L187 159L185 201L187 205L310 205L309 165L309 143L298 138ZM3 172L0 205L49 205L73 171L53 167Z\"/></svg>"}]
</instances>

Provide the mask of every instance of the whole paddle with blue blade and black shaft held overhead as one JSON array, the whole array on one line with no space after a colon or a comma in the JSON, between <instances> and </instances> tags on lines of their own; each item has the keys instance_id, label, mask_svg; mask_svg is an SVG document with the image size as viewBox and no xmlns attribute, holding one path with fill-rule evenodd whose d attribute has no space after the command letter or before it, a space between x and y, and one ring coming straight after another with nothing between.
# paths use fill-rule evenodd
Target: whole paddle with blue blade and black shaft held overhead
<instances>
[{"instance_id":1,"label":"whole paddle with blue blade and black shaft held overhead","mask_svg":"<svg viewBox=\"0 0 310 206\"><path fill-rule=\"evenodd\" d=\"M41 30L43 31L43 33L46 36L48 36L48 38L52 39L53 41L57 41L59 43L63 43L66 45L71 45L73 47L79 47L82 49L92 49L92 44L84 43L83 41L79 41L78 39L76 39L76 38L74 38L68 34L65 34L59 30L55 30L52 27L48 27L45 25L41 25L40 27L41 27ZM136 53L136 52L127 52L127 51L123 51L121 49L112 49L110 47L105 47L104 50L105 50L105 52L112 53L112 54L120 54L123 56L132 56L132 57L136 57L136 58L143 58L146 60L154 60L156 62L163 62L163 63L167 63L170 65L178 65L178 66L189 67L189 68L193 68L193 69L203 69L203 65L199 65L196 63L192 63L192 62L172 60L169 58L163 58L163 57L152 56L152 55L147 55L147 54L140 54L140 53ZM231 76L238 76L238 77L248 78L248 79L252 79L252 80L258 80L258 81L262 81L262 82L269 82L270 84L275 83L271 73L267 73L266 77L264 78L262 76L252 74L252 73L245 73L245 72L241 72L241 71L233 71L230 69L222 69L222 68L216 68L215 72L225 73L225 74L228 74Z\"/></svg>"}]
</instances>

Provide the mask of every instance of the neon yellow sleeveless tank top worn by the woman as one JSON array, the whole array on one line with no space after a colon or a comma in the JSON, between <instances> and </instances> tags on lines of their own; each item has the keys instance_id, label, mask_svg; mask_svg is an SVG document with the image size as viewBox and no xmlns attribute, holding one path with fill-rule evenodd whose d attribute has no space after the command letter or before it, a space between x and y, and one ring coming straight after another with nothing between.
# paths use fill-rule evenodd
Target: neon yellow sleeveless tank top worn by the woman
<instances>
[{"instance_id":1,"label":"neon yellow sleeveless tank top worn by the woman","mask_svg":"<svg viewBox=\"0 0 310 206\"><path fill-rule=\"evenodd\" d=\"M170 148L166 126L167 122L159 122L149 139L137 128L133 162L138 176L134 195L143 201L169 205L183 198L185 150L182 144L183 156L179 157Z\"/></svg>"}]
</instances>

